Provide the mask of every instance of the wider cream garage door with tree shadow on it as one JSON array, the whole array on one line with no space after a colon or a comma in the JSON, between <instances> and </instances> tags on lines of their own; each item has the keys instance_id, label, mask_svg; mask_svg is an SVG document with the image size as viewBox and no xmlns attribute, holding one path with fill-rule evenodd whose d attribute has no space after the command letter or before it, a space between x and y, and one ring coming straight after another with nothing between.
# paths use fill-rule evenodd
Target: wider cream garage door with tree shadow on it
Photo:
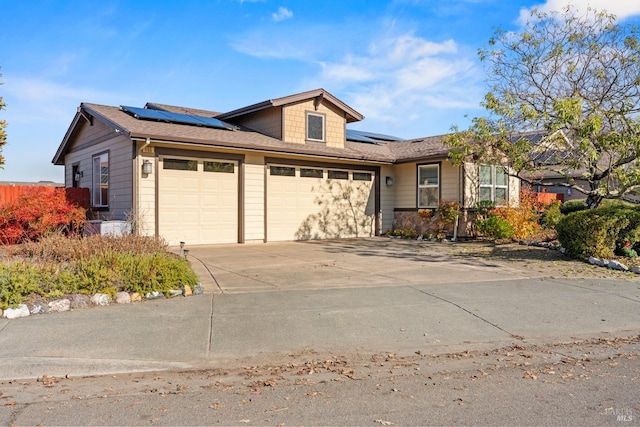
<instances>
[{"instance_id":1,"label":"wider cream garage door with tree shadow on it","mask_svg":"<svg viewBox=\"0 0 640 427\"><path fill-rule=\"evenodd\" d=\"M267 240L375 234L375 173L269 165Z\"/></svg>"}]
</instances>

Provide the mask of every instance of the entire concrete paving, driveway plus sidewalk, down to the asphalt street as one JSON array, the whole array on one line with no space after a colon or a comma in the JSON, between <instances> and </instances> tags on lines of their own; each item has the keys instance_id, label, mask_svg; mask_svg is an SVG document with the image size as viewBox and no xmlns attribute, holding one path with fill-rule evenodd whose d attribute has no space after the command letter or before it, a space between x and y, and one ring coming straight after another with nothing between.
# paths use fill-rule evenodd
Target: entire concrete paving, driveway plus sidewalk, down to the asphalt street
<instances>
[{"instance_id":1,"label":"entire concrete paving, driveway plus sidewalk, down to the asphalt street","mask_svg":"<svg viewBox=\"0 0 640 427\"><path fill-rule=\"evenodd\" d=\"M216 276L203 283L204 295L0 319L0 379L640 333L638 281L520 278L492 263L425 266L407 258L413 249L404 257L397 249L367 256L294 243L193 250ZM395 262L381 266L378 257ZM223 258L226 271L216 266Z\"/></svg>"}]
</instances>

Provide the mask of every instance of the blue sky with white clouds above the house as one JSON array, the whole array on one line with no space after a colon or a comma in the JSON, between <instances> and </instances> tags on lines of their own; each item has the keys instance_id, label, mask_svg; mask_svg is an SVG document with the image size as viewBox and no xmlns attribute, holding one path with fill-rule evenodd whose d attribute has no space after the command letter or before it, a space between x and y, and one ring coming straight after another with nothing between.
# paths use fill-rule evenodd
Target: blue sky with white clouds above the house
<instances>
[{"instance_id":1,"label":"blue sky with white clouds above the house","mask_svg":"<svg viewBox=\"0 0 640 427\"><path fill-rule=\"evenodd\" d=\"M0 181L63 181L53 166L81 102L229 111L322 87L352 126L414 138L482 115L477 60L496 27L569 0L4 0ZM640 22L636 0L574 0Z\"/></svg>"}]
</instances>

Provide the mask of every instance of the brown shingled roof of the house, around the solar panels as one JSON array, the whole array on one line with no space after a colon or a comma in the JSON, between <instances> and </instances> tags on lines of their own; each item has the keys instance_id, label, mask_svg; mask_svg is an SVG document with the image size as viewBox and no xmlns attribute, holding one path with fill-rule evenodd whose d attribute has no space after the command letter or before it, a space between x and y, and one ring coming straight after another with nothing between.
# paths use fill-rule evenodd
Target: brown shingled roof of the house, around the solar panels
<instances>
[{"instance_id":1,"label":"brown shingled roof of the house, around the solar panels","mask_svg":"<svg viewBox=\"0 0 640 427\"><path fill-rule=\"evenodd\" d=\"M277 98L224 114L215 111L159 103L147 103L145 107L148 110L160 110L223 120L258 111L262 108L285 105L303 99L317 98L319 96L329 100L347 112L347 117L351 117L352 121L363 118L360 113L351 109L324 89L316 89ZM305 144L284 142L244 127L230 126L225 129L161 120L140 120L137 115L132 115L130 111L127 113L128 109L131 109L131 107L114 107L91 103L80 104L78 112L58 147L53 158L53 163L56 165L64 164L64 155L70 150L74 136L82 128L82 122L87 121L93 123L94 120L100 120L106 123L108 126L113 127L116 132L132 140L151 139L154 141L188 143L203 147L253 150L274 154L311 155L336 160L356 160L391 164L437 157L442 158L446 157L449 151L442 143L444 136L405 141L390 135L349 130L345 147L333 148L328 147L322 142L308 141ZM349 119L347 119L347 121L349 121Z\"/></svg>"}]
</instances>

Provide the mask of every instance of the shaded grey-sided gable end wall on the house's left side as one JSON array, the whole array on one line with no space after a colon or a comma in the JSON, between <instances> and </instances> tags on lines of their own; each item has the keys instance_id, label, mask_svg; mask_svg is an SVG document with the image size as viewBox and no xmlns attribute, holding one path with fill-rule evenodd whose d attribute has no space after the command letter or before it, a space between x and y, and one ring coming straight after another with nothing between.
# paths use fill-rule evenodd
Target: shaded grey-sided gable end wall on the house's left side
<instances>
[{"instance_id":1,"label":"shaded grey-sided gable end wall on the house's left side","mask_svg":"<svg viewBox=\"0 0 640 427\"><path fill-rule=\"evenodd\" d=\"M71 176L73 165L80 164L82 177L79 186L93 192L92 157L109 152L109 208L99 212L100 219L125 220L132 210L133 185L132 174L132 142L124 135L116 133L113 128L94 121L82 125L75 143L65 156L65 186L73 183ZM93 202L93 193L91 194Z\"/></svg>"}]
</instances>

